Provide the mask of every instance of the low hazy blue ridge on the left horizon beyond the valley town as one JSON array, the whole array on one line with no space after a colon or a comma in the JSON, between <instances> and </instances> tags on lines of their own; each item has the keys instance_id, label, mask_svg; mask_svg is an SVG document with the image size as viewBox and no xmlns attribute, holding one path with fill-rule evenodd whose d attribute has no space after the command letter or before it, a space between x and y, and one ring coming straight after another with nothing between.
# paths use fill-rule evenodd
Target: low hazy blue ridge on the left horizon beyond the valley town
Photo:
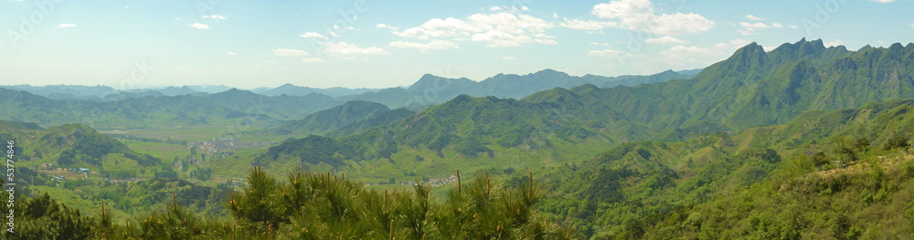
<instances>
[{"instance_id":1,"label":"low hazy blue ridge on the left horizon beyond the valley town","mask_svg":"<svg viewBox=\"0 0 914 240\"><path fill-rule=\"evenodd\" d=\"M144 96L122 93L112 101L56 100L25 91L0 89L0 120L35 121L43 126L79 122L96 128L208 125L237 120L270 125L300 120L341 102L321 94L267 97L230 89L210 95ZM256 121L256 122L255 122Z\"/></svg>"}]
</instances>

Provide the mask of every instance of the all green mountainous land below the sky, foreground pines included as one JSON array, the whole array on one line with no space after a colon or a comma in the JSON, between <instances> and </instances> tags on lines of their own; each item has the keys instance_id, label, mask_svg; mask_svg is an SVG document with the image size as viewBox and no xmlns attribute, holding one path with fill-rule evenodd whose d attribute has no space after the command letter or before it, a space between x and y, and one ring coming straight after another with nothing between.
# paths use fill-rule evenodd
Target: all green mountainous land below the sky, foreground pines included
<instances>
[{"instance_id":1,"label":"all green mountainous land below the sky, foreground pines included","mask_svg":"<svg viewBox=\"0 0 914 240\"><path fill-rule=\"evenodd\" d=\"M2 118L38 121L0 120L0 139L18 142L23 233L47 238L914 237L914 44L753 43L676 75L116 103L0 89ZM87 118L109 135L70 123ZM227 135L281 142L197 142Z\"/></svg>"}]
</instances>

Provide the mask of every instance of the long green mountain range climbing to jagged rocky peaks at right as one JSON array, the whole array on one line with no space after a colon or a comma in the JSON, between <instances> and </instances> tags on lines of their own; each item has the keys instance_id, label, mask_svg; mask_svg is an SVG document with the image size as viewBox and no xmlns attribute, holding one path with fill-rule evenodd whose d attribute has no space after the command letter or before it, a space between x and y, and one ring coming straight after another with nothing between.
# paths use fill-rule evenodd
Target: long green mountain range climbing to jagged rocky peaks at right
<instances>
[{"instance_id":1,"label":"long green mountain range climbing to jagged rocky peaks at right","mask_svg":"<svg viewBox=\"0 0 914 240\"><path fill-rule=\"evenodd\" d=\"M384 157L427 149L441 157L484 158L497 154L494 149L549 148L559 142L611 147L630 141L683 141L706 133L735 134L783 124L810 110L859 108L867 102L912 98L912 71L914 44L850 51L824 47L822 40L802 39L765 52L751 43L695 78L634 87L585 84L539 91L523 99L460 95L339 142L304 138L275 148L321 141L307 144L332 143L335 147L328 149L339 152L375 149L386 152L380 154ZM567 75L547 70L527 77L546 76L560 79ZM414 87L445 80L426 76ZM455 80L453 85L469 82ZM274 152L279 153L263 159L282 159L282 152L291 151ZM344 157L341 161L367 160L357 154L340 156Z\"/></svg>"}]
</instances>

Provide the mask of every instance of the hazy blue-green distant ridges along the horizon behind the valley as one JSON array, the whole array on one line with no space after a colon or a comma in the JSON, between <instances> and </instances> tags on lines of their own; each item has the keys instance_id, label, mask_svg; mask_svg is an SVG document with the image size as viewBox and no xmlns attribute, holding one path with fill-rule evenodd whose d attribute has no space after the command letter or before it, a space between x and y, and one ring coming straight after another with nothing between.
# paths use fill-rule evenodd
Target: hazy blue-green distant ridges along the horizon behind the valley
<instances>
[{"instance_id":1,"label":"hazy blue-green distant ridges along the horizon behind the valley","mask_svg":"<svg viewBox=\"0 0 914 240\"><path fill-rule=\"evenodd\" d=\"M565 76L568 79L553 81L552 79L557 76ZM643 78L651 81L668 80L668 78L676 77L681 77L681 75L667 71L656 76ZM590 76L588 78L598 77ZM599 78L599 80L590 81L615 80L615 78ZM626 76L624 78L642 77ZM282 120L301 120L316 111L330 109L353 100L378 102L395 109L410 107L411 110L421 110L453 99L460 94L478 95L480 97L496 95L504 96L501 98L520 99L528 93L535 92L537 85L543 86L538 88L553 89L557 85L571 86L577 84L574 79L582 78L569 77L565 73L553 70L543 70L525 76L499 75L484 82L474 82L466 78L450 79L426 75L409 89L378 89L377 91L367 91L357 95L340 97L325 95L317 91L303 96L279 94L279 92L271 93L279 95L264 96L239 89L228 89L217 93L200 91L220 89L224 86L183 86L180 88L168 87L165 89L130 91L117 91L100 86L93 87L101 88L98 93L99 96L82 96L77 99L56 99L56 97L55 99L43 99L35 94L27 93L27 91L23 91L26 94L9 91L5 95L14 96L14 98L3 100L6 106L4 107L5 110L0 110L0 119L36 121L45 126L81 122L104 128L135 128L150 126L152 122L170 125L200 125L214 120L237 119L239 116L248 116L248 119L251 120L266 120L266 122L259 124L272 124ZM81 86L70 87L76 89L85 88ZM282 89L300 89L300 87L292 85L284 85L282 87ZM50 87L34 87L31 89L44 88ZM332 90L336 92L335 94L343 94L367 89L347 90L337 88ZM263 91L268 90L263 89ZM56 93L51 95L67 96L66 94ZM19 100L27 100L30 103L26 104ZM24 114L24 110L27 110L29 106L41 106L42 110L30 111ZM322 130L322 132L329 131Z\"/></svg>"}]
</instances>

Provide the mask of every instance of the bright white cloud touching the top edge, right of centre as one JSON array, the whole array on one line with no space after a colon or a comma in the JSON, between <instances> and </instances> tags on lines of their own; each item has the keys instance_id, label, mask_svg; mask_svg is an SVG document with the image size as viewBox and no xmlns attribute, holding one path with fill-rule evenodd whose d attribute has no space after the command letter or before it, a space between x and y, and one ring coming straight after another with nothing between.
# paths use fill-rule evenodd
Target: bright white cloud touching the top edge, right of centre
<instances>
[{"instance_id":1,"label":"bright white cloud touching the top edge, right of centre","mask_svg":"<svg viewBox=\"0 0 914 240\"><path fill-rule=\"evenodd\" d=\"M716 23L694 13L655 14L648 0L618 0L594 5L591 13L605 19L618 20L623 29L649 31L659 35L685 35L706 32Z\"/></svg>"}]
</instances>

